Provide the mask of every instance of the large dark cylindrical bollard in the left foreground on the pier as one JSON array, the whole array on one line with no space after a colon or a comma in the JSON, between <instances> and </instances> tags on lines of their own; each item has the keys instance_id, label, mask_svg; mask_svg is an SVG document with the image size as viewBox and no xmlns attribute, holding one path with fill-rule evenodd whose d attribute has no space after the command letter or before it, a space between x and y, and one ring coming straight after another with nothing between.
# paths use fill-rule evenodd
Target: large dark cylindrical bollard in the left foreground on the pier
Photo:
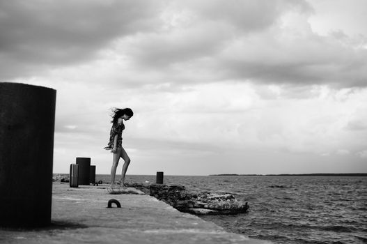
<instances>
[{"instance_id":1,"label":"large dark cylindrical bollard in the left foreground on the pier","mask_svg":"<svg viewBox=\"0 0 367 244\"><path fill-rule=\"evenodd\" d=\"M0 82L0 226L51 223L56 90Z\"/></svg>"}]
</instances>

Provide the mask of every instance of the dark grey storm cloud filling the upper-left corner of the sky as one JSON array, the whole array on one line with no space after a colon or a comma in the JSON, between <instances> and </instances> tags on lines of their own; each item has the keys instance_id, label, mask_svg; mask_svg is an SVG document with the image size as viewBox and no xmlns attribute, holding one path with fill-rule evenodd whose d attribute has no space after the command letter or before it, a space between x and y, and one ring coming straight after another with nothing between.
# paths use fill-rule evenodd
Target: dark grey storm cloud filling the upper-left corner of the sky
<instances>
[{"instance_id":1,"label":"dark grey storm cloud filling the upper-left corner of the sky","mask_svg":"<svg viewBox=\"0 0 367 244\"><path fill-rule=\"evenodd\" d=\"M93 59L111 40L153 31L159 23L159 2L153 1L0 4L2 77Z\"/></svg>"}]
</instances>

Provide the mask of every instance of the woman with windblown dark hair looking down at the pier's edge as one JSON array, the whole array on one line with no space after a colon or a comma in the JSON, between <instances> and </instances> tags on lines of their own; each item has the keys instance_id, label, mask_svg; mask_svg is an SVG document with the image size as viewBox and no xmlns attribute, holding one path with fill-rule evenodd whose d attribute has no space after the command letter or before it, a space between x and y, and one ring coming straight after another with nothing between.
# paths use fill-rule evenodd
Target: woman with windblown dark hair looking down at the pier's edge
<instances>
[{"instance_id":1,"label":"woman with windblown dark hair looking down at the pier's edge","mask_svg":"<svg viewBox=\"0 0 367 244\"><path fill-rule=\"evenodd\" d=\"M127 167L130 164L130 158L127 155L125 149L123 148L123 130L125 129L125 125L123 124L123 120L128 121L134 113L132 109L125 108L125 109L118 109L115 108L113 110L114 114L112 116L112 127L111 131L109 132L109 143L104 149L111 150L111 153L114 153L114 158L112 161L112 168L111 168L111 187L116 186L115 184L115 175L116 175L116 168L118 165L118 160L120 157L123 158L125 161L123 165L123 173L120 181L117 182L119 186L123 186L125 183L125 174L127 171Z\"/></svg>"}]
</instances>

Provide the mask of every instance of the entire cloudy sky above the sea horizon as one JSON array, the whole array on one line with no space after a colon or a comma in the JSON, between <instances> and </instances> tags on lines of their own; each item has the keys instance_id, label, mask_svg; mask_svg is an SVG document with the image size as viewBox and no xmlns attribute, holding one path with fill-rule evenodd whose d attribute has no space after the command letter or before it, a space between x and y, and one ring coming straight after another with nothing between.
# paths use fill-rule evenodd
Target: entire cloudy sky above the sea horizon
<instances>
[{"instance_id":1,"label":"entire cloudy sky above the sea horizon","mask_svg":"<svg viewBox=\"0 0 367 244\"><path fill-rule=\"evenodd\" d=\"M0 0L0 81L56 89L54 172L367 172L367 1ZM123 160L120 160L120 173Z\"/></svg>"}]
</instances>

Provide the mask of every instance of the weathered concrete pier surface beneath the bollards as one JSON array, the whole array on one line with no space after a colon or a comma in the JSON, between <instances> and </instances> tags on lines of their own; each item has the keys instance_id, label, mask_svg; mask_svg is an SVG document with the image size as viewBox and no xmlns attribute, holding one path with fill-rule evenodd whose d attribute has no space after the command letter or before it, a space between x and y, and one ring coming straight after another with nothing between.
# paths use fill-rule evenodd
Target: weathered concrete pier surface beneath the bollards
<instances>
[{"instance_id":1,"label":"weathered concrete pier surface beneath the bollards","mask_svg":"<svg viewBox=\"0 0 367 244\"><path fill-rule=\"evenodd\" d=\"M117 199L121 208L107 208ZM155 197L109 195L107 185L69 188L54 182L52 226L0 229L0 243L265 243L228 233Z\"/></svg>"}]
</instances>

